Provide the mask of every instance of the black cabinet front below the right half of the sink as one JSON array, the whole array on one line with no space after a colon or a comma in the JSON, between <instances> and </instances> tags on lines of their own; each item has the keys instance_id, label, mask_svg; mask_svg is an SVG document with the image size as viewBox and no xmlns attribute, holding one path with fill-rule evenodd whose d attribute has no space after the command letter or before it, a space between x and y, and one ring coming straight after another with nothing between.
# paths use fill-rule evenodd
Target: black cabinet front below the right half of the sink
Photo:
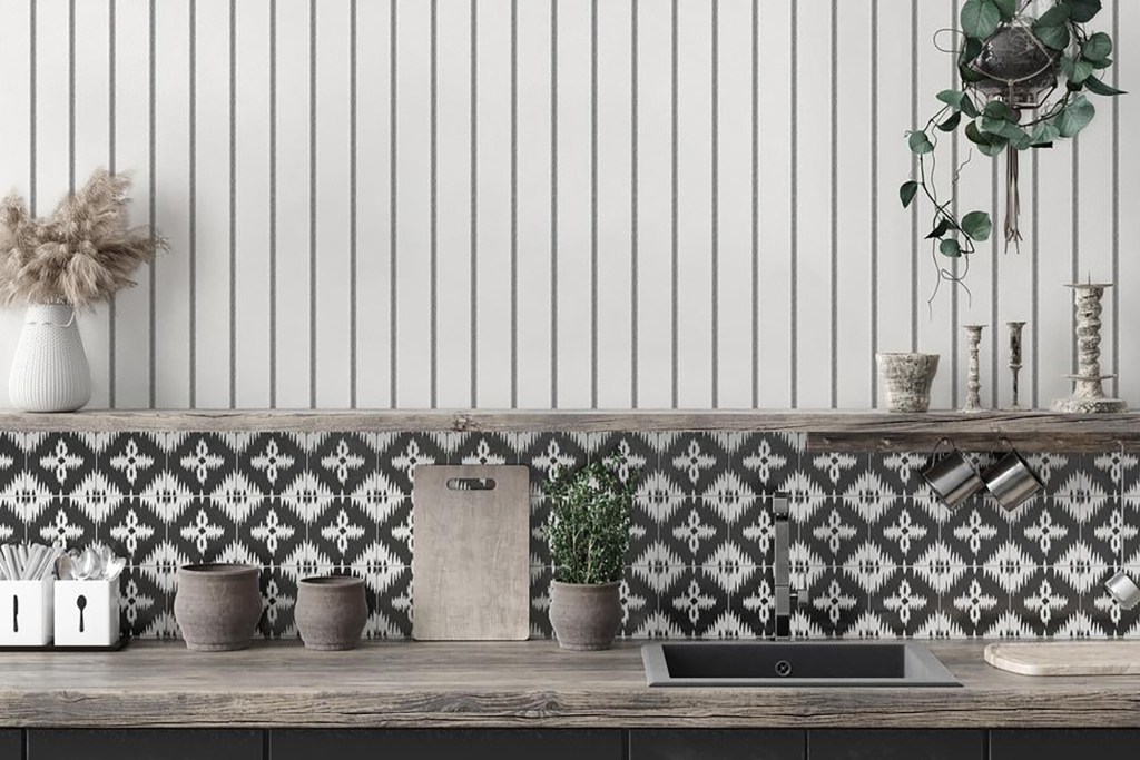
<instances>
[{"instance_id":1,"label":"black cabinet front below the right half of the sink","mask_svg":"<svg viewBox=\"0 0 1140 760\"><path fill-rule=\"evenodd\" d=\"M807 733L807 760L982 760L984 752L982 730L871 728Z\"/></svg>"}]
</instances>

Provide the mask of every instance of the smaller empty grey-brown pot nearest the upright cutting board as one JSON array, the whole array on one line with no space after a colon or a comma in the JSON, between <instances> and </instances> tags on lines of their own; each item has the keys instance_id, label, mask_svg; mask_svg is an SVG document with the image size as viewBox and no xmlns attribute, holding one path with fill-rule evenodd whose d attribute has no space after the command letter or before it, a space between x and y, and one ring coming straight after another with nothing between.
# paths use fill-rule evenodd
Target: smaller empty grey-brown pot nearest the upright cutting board
<instances>
[{"instance_id":1,"label":"smaller empty grey-brown pot nearest the upright cutting board","mask_svg":"<svg viewBox=\"0 0 1140 760\"><path fill-rule=\"evenodd\" d=\"M296 587L296 627L308 649L356 648L368 620L364 579L306 578Z\"/></svg>"}]
</instances>

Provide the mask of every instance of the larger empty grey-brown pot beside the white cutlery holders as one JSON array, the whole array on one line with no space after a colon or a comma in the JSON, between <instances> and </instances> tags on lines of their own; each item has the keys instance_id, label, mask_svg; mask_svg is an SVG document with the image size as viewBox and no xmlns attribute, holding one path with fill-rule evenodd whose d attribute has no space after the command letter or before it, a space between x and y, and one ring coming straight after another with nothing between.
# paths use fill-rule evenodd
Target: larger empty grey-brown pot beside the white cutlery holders
<instances>
[{"instance_id":1,"label":"larger empty grey-brown pot beside the white cutlery holders","mask_svg":"<svg viewBox=\"0 0 1140 760\"><path fill-rule=\"evenodd\" d=\"M174 620L186 647L198 652L244 649L261 619L260 570L253 565L185 565L178 569Z\"/></svg>"}]
</instances>

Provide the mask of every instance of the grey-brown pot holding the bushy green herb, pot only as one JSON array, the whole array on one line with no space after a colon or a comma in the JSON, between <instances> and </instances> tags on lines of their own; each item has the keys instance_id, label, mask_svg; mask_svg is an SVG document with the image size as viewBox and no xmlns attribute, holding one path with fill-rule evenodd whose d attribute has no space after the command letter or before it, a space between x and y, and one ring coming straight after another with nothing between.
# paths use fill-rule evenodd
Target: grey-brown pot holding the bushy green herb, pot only
<instances>
[{"instance_id":1,"label":"grey-brown pot holding the bushy green herb, pot only","mask_svg":"<svg viewBox=\"0 0 1140 760\"><path fill-rule=\"evenodd\" d=\"M621 623L621 585L551 586L551 626L563 649L609 649Z\"/></svg>"}]
</instances>

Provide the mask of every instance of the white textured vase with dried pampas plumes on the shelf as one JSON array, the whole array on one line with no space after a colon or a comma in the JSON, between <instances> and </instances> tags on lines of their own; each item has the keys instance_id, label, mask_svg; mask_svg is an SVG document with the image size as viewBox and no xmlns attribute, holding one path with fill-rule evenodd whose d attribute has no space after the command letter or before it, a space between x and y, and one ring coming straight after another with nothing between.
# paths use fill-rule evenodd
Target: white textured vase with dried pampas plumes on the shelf
<instances>
[{"instance_id":1,"label":"white textured vase with dried pampas plumes on the shelf","mask_svg":"<svg viewBox=\"0 0 1140 760\"><path fill-rule=\"evenodd\" d=\"M0 303L25 304L9 401L26 411L73 411L91 399L75 310L135 285L131 273L163 242L127 214L130 179L98 170L47 219L17 195L0 202Z\"/></svg>"}]
</instances>

